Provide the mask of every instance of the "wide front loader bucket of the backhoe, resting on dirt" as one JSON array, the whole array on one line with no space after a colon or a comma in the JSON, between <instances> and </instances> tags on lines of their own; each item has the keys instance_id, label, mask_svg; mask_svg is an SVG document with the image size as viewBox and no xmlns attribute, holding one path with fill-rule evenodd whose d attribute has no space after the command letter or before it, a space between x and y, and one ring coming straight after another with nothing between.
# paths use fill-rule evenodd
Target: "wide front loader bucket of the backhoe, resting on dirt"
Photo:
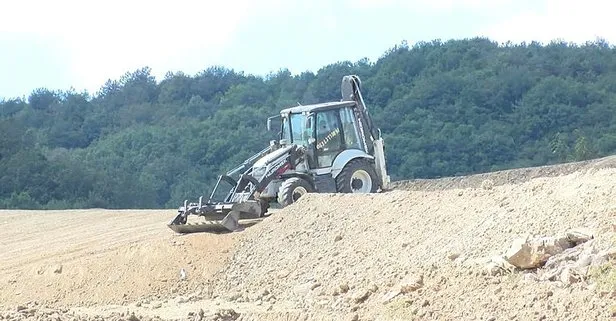
<instances>
[{"instance_id":1,"label":"wide front loader bucket of the backhoe, resting on dirt","mask_svg":"<svg viewBox=\"0 0 616 321\"><path fill-rule=\"evenodd\" d=\"M234 204L204 205L198 208L183 207L167 226L176 233L238 232L262 221L261 205L257 201ZM203 216L205 221L189 223L188 214Z\"/></svg>"}]
</instances>

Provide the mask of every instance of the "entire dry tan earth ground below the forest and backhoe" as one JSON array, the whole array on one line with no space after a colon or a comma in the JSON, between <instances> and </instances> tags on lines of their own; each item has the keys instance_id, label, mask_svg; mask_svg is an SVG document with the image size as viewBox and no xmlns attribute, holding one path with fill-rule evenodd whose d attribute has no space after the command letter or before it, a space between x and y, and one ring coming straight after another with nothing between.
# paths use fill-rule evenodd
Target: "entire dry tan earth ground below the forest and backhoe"
<instances>
[{"instance_id":1,"label":"entire dry tan earth ground below the forest and backhoe","mask_svg":"<svg viewBox=\"0 0 616 321\"><path fill-rule=\"evenodd\" d=\"M0 320L608 320L615 182L614 157L398 182L229 234L176 235L173 210L0 211ZM539 237L567 245L509 264Z\"/></svg>"}]
</instances>

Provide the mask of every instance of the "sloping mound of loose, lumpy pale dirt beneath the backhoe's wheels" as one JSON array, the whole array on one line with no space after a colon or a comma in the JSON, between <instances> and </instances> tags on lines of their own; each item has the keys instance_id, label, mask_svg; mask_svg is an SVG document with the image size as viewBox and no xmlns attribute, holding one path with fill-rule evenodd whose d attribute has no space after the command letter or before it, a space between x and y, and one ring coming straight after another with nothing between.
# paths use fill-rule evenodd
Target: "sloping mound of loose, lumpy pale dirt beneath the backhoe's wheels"
<instances>
[{"instance_id":1,"label":"sloping mound of loose, lumpy pale dirt beneath the backhoe's wheels","mask_svg":"<svg viewBox=\"0 0 616 321\"><path fill-rule=\"evenodd\" d=\"M315 318L607 318L614 300L590 281L485 267L528 235L586 228L596 247L612 246L611 163L517 170L527 176L517 181L515 170L434 180L426 191L406 182L398 188L409 190L377 195L308 195L244 232L211 289Z\"/></svg>"}]
</instances>

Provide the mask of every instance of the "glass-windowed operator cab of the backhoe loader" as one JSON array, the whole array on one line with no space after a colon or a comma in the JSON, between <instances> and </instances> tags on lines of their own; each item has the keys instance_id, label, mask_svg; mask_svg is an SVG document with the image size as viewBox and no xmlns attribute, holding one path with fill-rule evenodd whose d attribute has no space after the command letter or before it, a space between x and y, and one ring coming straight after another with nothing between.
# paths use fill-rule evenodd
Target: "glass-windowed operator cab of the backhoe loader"
<instances>
[{"instance_id":1,"label":"glass-windowed operator cab of the backhoe loader","mask_svg":"<svg viewBox=\"0 0 616 321\"><path fill-rule=\"evenodd\" d=\"M297 106L280 112L280 143L306 147L310 168L331 167L349 149L367 152L353 101ZM271 125L270 125L271 126Z\"/></svg>"}]
</instances>

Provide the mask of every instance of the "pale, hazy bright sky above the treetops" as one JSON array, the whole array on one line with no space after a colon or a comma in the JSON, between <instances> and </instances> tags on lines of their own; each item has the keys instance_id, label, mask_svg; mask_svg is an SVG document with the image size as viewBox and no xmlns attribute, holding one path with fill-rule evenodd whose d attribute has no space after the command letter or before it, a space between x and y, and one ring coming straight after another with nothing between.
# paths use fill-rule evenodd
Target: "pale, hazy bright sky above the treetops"
<instances>
[{"instance_id":1,"label":"pale, hazy bright sky above the treetops","mask_svg":"<svg viewBox=\"0 0 616 321\"><path fill-rule=\"evenodd\" d=\"M376 61L407 41L616 44L610 0L20 0L0 18L0 100L87 90L148 66L195 75L222 65L297 74ZM613 21L613 22L612 22Z\"/></svg>"}]
</instances>

